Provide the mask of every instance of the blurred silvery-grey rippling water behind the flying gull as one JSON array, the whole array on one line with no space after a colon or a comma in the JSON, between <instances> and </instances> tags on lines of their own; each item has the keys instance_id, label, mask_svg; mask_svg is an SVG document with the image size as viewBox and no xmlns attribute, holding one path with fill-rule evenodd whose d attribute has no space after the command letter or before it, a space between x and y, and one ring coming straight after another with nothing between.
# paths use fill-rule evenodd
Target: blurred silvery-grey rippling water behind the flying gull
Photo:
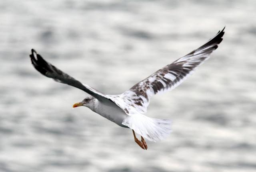
<instances>
[{"instance_id":1,"label":"blurred silvery-grey rippling water behind the flying gull","mask_svg":"<svg viewBox=\"0 0 256 172\"><path fill-rule=\"evenodd\" d=\"M144 151L132 131L88 108L86 93L31 65L45 59L106 94L120 94L204 44L211 58L147 115L173 132ZM255 0L1 0L1 172L255 172Z\"/></svg>"}]
</instances>

